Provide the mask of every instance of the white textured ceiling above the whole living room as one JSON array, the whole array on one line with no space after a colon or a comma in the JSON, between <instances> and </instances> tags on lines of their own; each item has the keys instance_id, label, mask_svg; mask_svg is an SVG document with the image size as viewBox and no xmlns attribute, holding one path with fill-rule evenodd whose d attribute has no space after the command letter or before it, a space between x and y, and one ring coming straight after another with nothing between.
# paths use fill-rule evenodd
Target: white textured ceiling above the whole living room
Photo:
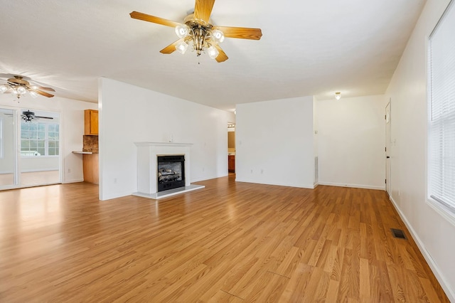
<instances>
[{"instance_id":1,"label":"white textured ceiling above the whole living room","mask_svg":"<svg viewBox=\"0 0 455 303\"><path fill-rule=\"evenodd\" d=\"M1 1L0 73L26 75L71 99L97 102L97 78L107 77L222 110L305 95L327 99L336 91L382 94L424 3L217 0L214 24L263 34L259 41L225 39L229 60L217 63L191 52L159 53L178 39L173 28L129 16L183 21L194 0Z\"/></svg>"}]
</instances>

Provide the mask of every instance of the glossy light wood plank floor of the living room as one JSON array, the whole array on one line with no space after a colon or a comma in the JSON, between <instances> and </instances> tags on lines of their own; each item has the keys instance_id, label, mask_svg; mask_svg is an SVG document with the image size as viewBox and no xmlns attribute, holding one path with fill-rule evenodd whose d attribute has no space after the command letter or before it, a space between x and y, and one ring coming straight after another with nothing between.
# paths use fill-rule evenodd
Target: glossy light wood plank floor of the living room
<instances>
[{"instance_id":1,"label":"glossy light wood plank floor of the living room","mask_svg":"<svg viewBox=\"0 0 455 303\"><path fill-rule=\"evenodd\" d=\"M383 191L198 184L0 192L0 302L449 302Z\"/></svg>"}]
</instances>

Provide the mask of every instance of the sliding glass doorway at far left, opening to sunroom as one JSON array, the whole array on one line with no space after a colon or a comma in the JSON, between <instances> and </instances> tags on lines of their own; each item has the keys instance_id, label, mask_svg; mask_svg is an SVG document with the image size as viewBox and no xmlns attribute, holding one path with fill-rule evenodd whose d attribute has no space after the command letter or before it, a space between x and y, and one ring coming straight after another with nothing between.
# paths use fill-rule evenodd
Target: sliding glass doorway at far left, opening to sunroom
<instances>
[{"instance_id":1,"label":"sliding glass doorway at far left, opening to sunroom","mask_svg":"<svg viewBox=\"0 0 455 303\"><path fill-rule=\"evenodd\" d=\"M61 183L60 114L0 108L0 189Z\"/></svg>"}]
</instances>

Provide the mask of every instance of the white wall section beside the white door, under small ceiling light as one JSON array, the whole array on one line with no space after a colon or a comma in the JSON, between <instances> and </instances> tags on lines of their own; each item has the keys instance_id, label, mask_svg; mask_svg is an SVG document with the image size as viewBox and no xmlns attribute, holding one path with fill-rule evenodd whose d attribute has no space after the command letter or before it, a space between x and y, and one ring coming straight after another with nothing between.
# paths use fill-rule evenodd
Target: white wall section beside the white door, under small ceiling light
<instances>
[{"instance_id":1,"label":"white wall section beside the white door, under small ceiling light","mask_svg":"<svg viewBox=\"0 0 455 303\"><path fill-rule=\"evenodd\" d=\"M319 100L319 184L385 188L385 96Z\"/></svg>"}]
</instances>

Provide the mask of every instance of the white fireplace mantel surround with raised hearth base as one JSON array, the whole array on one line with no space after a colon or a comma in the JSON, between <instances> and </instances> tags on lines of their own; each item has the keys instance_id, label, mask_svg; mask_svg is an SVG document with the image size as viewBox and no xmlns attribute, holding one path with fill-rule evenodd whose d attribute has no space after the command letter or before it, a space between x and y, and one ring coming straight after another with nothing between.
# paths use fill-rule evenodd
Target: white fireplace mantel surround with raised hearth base
<instances>
[{"instance_id":1,"label":"white fireplace mantel surround with raised hearth base","mask_svg":"<svg viewBox=\"0 0 455 303\"><path fill-rule=\"evenodd\" d=\"M191 184L190 151L193 144L173 142L134 142L134 144L137 146L137 193L133 195L156 199L204 187ZM160 195L157 184L157 156L176 154L185 155L185 187L161 191Z\"/></svg>"}]
</instances>

